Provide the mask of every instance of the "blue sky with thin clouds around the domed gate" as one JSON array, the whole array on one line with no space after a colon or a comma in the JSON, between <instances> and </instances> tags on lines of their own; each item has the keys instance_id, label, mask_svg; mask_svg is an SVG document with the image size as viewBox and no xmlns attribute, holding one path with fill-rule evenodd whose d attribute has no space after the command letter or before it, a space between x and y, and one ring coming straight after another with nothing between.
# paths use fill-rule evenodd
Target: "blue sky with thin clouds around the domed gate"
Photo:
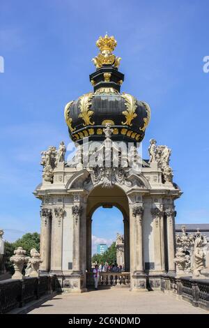
<instances>
[{"instance_id":1,"label":"blue sky with thin clouds around the domed gate","mask_svg":"<svg viewBox=\"0 0 209 328\"><path fill-rule=\"evenodd\" d=\"M122 91L150 104L143 142L172 149L177 223L208 223L208 1L1 0L0 227L14 240L40 230L40 151L67 144L63 108L91 91L95 40L106 31L118 41L125 73ZM107 212L99 209L93 233L111 239ZM114 210L112 216L119 216ZM113 223L114 224L114 223ZM116 224L112 231L116 231Z\"/></svg>"}]
</instances>

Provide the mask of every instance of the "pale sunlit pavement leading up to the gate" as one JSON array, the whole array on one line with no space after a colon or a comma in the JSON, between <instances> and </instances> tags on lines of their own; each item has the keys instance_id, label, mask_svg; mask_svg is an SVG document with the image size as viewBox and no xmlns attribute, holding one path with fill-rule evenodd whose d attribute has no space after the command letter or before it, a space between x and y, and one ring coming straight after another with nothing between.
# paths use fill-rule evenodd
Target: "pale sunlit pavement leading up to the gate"
<instances>
[{"instance_id":1,"label":"pale sunlit pavement leading up to the gate","mask_svg":"<svg viewBox=\"0 0 209 328\"><path fill-rule=\"evenodd\" d=\"M120 290L93 290L82 294L63 293L46 301L30 313L205 313L186 301L175 299L160 291L130 292L126 288Z\"/></svg>"}]
</instances>

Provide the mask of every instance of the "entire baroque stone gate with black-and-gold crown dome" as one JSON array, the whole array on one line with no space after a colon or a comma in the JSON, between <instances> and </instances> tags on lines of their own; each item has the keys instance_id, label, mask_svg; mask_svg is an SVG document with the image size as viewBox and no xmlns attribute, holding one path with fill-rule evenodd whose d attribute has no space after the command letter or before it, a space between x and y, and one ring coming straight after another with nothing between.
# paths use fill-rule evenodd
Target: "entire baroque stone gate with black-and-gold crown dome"
<instances>
[{"instance_id":1,"label":"entire baroque stone gate with black-and-gold crown dome","mask_svg":"<svg viewBox=\"0 0 209 328\"><path fill-rule=\"evenodd\" d=\"M171 149L150 140L149 159L139 146L150 120L150 107L121 94L121 58L112 52L114 37L100 37L100 54L90 75L93 92L65 106L65 121L77 147L65 161L65 144L42 151L42 183L34 191L41 201L41 274L56 274L61 288L86 290L91 271L91 217L100 206L123 214L125 270L131 290L146 289L146 280L176 271ZM158 279L159 280L159 279Z\"/></svg>"}]
</instances>

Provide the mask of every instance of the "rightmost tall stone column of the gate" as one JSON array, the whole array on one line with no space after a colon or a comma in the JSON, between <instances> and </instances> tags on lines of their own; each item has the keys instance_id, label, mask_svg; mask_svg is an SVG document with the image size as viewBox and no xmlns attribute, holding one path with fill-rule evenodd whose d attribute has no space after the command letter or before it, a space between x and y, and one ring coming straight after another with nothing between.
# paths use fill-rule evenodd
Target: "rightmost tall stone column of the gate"
<instances>
[{"instance_id":1,"label":"rightmost tall stone column of the gate","mask_svg":"<svg viewBox=\"0 0 209 328\"><path fill-rule=\"evenodd\" d=\"M175 263L173 259L175 258L175 233L174 233L174 215L175 211L172 208L165 210L167 216L167 244L168 244L168 262L169 262L169 272L175 273Z\"/></svg>"}]
</instances>

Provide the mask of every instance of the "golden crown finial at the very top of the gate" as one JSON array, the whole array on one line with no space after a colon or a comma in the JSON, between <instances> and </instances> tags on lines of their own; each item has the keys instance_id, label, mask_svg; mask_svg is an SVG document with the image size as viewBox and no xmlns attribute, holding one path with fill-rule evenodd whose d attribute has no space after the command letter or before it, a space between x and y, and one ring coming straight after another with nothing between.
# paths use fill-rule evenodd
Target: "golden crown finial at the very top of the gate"
<instances>
[{"instance_id":1,"label":"golden crown finial at the very top of the gate","mask_svg":"<svg viewBox=\"0 0 209 328\"><path fill-rule=\"evenodd\" d=\"M112 54L116 45L117 41L114 36L108 36L107 32L104 37L100 36L98 38L96 46L100 49L100 54L92 59L96 68L101 68L103 65L111 65L118 68L121 57L116 57Z\"/></svg>"}]
</instances>

